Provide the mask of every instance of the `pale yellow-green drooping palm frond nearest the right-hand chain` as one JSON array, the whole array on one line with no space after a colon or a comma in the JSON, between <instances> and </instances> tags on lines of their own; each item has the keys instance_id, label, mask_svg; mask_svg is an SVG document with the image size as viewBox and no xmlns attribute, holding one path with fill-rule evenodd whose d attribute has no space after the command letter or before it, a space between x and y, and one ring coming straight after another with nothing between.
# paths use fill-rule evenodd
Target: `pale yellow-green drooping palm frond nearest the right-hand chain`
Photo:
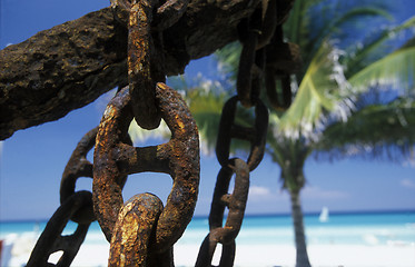
<instances>
[{"instance_id":1,"label":"pale yellow-green drooping palm frond nearest the right-hand chain","mask_svg":"<svg viewBox=\"0 0 415 267\"><path fill-rule=\"evenodd\" d=\"M309 65L290 108L280 118L279 130L288 136L309 135L318 129L325 111L345 117L350 108L344 105L348 83L337 59L339 51L328 42ZM342 102L345 100L344 102Z\"/></svg>"}]
</instances>

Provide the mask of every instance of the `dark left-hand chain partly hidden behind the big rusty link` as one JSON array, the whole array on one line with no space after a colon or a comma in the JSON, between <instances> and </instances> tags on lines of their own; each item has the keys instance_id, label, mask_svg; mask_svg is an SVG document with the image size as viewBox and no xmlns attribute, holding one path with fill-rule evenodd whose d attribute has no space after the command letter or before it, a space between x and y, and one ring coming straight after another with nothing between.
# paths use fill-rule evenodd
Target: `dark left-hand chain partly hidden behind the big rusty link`
<instances>
[{"instance_id":1,"label":"dark left-hand chain partly hidden behind the big rusty link","mask_svg":"<svg viewBox=\"0 0 415 267\"><path fill-rule=\"evenodd\" d=\"M92 194L75 191L76 181L80 177L92 178L92 164L87 159L88 151L95 146L98 127L87 132L78 142L62 175L60 187L61 206L49 219L39 237L27 266L53 266L48 263L49 256L62 250L56 266L70 266L87 235L89 225L96 220L92 210ZM70 236L61 236L68 220L78 224Z\"/></svg>"}]
</instances>

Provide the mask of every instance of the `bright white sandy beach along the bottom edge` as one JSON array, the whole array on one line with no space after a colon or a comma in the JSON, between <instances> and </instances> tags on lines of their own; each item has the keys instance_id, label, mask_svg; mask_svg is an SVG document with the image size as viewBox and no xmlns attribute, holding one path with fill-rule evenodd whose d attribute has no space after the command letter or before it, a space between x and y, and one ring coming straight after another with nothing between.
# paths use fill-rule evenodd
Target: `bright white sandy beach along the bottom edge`
<instances>
[{"instance_id":1,"label":"bright white sandy beach along the bottom edge","mask_svg":"<svg viewBox=\"0 0 415 267\"><path fill-rule=\"evenodd\" d=\"M20 247L16 247L20 246ZM29 258L30 244L14 243L11 258L7 265L23 266ZM71 266L107 266L108 244L85 244ZM220 251L220 247L217 248ZM195 266L199 251L198 245L176 245L175 266ZM308 246L310 263L314 267L414 267L415 245L310 245ZM52 255L55 261L59 255ZM219 254L215 255L214 264L218 263ZM55 260L53 260L55 259ZM4 263L3 263L4 264ZM273 267L295 266L295 248L290 245L237 245L236 267Z\"/></svg>"}]
</instances>

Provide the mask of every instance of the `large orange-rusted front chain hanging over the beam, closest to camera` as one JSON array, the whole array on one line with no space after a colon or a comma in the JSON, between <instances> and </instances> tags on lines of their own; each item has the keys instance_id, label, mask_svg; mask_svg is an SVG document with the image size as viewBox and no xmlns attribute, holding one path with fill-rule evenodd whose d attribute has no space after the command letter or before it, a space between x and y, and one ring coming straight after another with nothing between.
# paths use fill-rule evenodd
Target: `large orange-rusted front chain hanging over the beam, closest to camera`
<instances>
[{"instance_id":1,"label":"large orange-rusted front chain hanging over the beam, closest to camera","mask_svg":"<svg viewBox=\"0 0 415 267\"><path fill-rule=\"evenodd\" d=\"M93 204L110 241L109 266L172 266L172 245L189 224L199 184L199 144L196 122L180 96L167 87L162 70L162 34L154 40L151 24L157 0L113 0L116 16L128 19L129 89L108 105L96 141ZM175 23L188 1L167 1L156 12L156 29ZM118 12L117 12L118 11ZM158 18L157 18L158 16ZM162 118L172 132L169 142L135 148L122 142L136 119L155 129ZM166 207L155 195L140 194L123 204L122 175L157 171L174 179Z\"/></svg>"}]
</instances>

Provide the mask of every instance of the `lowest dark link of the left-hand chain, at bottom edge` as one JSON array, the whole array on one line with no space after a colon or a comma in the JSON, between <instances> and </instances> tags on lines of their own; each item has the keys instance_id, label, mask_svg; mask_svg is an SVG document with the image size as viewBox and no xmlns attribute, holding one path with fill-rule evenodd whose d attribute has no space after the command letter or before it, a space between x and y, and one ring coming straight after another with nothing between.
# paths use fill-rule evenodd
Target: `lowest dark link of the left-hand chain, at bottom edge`
<instances>
[{"instance_id":1,"label":"lowest dark link of the left-hand chain, at bottom edge","mask_svg":"<svg viewBox=\"0 0 415 267\"><path fill-rule=\"evenodd\" d=\"M62 236L68 220L75 212L91 205L92 196L89 191L78 191L68 198L49 219L43 233L39 237L27 267L39 266L70 266L79 247L87 235L89 224L78 224L76 231L70 236ZM56 251L63 251L56 265L48 263L49 256Z\"/></svg>"}]
</instances>

